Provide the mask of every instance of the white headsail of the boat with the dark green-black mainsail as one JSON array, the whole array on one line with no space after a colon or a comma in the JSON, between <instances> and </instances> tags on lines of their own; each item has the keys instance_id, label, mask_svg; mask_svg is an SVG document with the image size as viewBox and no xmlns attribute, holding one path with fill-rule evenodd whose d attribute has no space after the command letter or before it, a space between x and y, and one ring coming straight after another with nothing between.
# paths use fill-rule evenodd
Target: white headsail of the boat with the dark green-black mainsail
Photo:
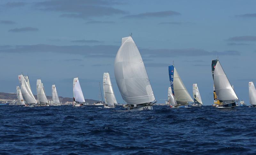
<instances>
[{"instance_id":1,"label":"white headsail of the boat with the dark green-black mainsail","mask_svg":"<svg viewBox=\"0 0 256 155\"><path fill-rule=\"evenodd\" d=\"M228 78L222 69L220 62L218 61L213 75L214 87L218 100L228 101L228 100L238 100L234 89L232 88Z\"/></svg>"}]
</instances>

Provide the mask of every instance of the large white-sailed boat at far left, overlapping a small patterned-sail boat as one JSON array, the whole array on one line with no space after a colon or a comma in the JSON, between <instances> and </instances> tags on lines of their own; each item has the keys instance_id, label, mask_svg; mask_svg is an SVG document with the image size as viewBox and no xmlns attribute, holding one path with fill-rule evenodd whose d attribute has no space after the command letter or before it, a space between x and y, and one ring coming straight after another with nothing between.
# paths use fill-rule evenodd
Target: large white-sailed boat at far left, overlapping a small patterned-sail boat
<instances>
[{"instance_id":1,"label":"large white-sailed boat at far left, overlapping a small patterned-sail boat","mask_svg":"<svg viewBox=\"0 0 256 155\"><path fill-rule=\"evenodd\" d=\"M24 97L26 103L30 105L29 107L36 106L37 102L30 88L28 76L23 76L23 74L21 74L21 75L18 75L18 78L20 82L20 91L21 91L22 97Z\"/></svg>"}]
</instances>

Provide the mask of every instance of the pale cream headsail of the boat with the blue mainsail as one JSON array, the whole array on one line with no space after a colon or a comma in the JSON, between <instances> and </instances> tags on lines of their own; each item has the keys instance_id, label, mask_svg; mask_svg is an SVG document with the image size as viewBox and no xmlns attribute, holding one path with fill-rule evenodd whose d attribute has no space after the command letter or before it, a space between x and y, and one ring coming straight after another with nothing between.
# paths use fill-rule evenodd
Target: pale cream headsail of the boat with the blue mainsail
<instances>
[{"instance_id":1,"label":"pale cream headsail of the boat with the blue mainsail","mask_svg":"<svg viewBox=\"0 0 256 155\"><path fill-rule=\"evenodd\" d=\"M173 73L173 90L177 102L194 102L189 95L188 90L181 81L180 75L178 74L175 67Z\"/></svg>"}]
</instances>

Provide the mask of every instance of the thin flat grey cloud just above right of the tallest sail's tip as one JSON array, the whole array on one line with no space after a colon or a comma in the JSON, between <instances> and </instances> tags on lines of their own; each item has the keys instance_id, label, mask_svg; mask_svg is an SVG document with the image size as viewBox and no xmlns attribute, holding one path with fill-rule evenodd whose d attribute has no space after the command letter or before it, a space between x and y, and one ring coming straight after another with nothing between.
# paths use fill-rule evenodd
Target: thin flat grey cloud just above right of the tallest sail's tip
<instances>
[{"instance_id":1,"label":"thin flat grey cloud just above right of the tallest sail's tip","mask_svg":"<svg viewBox=\"0 0 256 155\"><path fill-rule=\"evenodd\" d=\"M175 15L181 15L179 12L175 11L161 11L161 12L146 12L146 13L140 13L136 15L127 15L122 17L123 19L142 19L142 18L148 18L148 17L169 17L169 16L175 16Z\"/></svg>"}]
</instances>

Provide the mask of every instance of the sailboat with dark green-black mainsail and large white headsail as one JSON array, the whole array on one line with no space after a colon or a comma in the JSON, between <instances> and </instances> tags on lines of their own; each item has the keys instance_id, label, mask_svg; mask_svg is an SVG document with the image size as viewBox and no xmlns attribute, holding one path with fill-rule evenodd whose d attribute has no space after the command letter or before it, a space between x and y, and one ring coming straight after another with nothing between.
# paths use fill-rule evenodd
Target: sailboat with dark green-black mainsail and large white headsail
<instances>
[{"instance_id":1,"label":"sailboat with dark green-black mainsail and large white headsail","mask_svg":"<svg viewBox=\"0 0 256 155\"><path fill-rule=\"evenodd\" d=\"M215 104L217 108L236 107L238 97L232 88L228 78L220 65L219 59L212 60L212 78L215 87L215 93L220 103Z\"/></svg>"}]
</instances>

